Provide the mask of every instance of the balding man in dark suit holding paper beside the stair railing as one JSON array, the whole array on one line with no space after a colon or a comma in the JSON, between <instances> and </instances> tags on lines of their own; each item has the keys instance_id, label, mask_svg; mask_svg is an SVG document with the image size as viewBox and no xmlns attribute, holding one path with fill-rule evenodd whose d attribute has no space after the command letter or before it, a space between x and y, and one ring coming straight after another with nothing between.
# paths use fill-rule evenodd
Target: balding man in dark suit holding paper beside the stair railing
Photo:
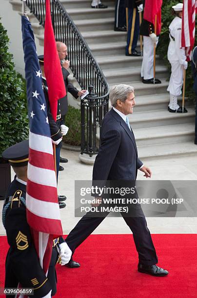
<instances>
[{"instance_id":1,"label":"balding man in dark suit holding paper beside the stair railing","mask_svg":"<svg viewBox=\"0 0 197 298\"><path fill-rule=\"evenodd\" d=\"M70 61L66 59L68 52L67 52L67 46L65 43L57 41L57 50L58 50L58 55L59 55L59 60L61 63L61 70L62 70L62 75L64 79L64 84L66 88L66 96L63 98L59 99L59 106L60 106L60 113L61 113L61 118L65 122L65 117L66 113L68 112L68 97L67 93L71 93L75 98L78 98L79 96L83 95L86 90L81 90L79 91L77 88L73 86L72 83L68 81L68 76L70 75L68 69L70 67ZM66 60L65 60L66 59ZM60 163L67 163L68 160L67 158L62 158L60 157ZM63 170L64 168L59 166L59 170Z\"/></svg>"}]
</instances>

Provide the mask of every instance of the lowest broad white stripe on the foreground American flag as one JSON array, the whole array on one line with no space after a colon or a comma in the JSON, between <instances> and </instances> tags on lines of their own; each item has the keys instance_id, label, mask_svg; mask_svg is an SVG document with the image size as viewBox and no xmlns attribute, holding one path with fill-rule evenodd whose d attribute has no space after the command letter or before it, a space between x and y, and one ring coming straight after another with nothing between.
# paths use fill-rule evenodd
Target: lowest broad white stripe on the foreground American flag
<instances>
[{"instance_id":1,"label":"lowest broad white stripe on the foreground American flag","mask_svg":"<svg viewBox=\"0 0 197 298\"><path fill-rule=\"evenodd\" d=\"M60 220L59 204L44 202L31 197L28 193L26 194L28 210L37 216Z\"/></svg>"}]
</instances>

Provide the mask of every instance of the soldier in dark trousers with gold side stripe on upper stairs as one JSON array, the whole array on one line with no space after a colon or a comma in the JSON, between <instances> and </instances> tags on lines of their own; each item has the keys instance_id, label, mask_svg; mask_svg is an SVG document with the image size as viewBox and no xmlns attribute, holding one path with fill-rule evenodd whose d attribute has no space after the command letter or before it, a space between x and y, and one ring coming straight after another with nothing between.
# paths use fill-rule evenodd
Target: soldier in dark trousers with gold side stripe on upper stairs
<instances>
[{"instance_id":1,"label":"soldier in dark trousers with gold side stripe on upper stairs","mask_svg":"<svg viewBox=\"0 0 197 298\"><path fill-rule=\"evenodd\" d=\"M128 32L126 56L141 56L136 50L139 36L139 13L143 11L143 0L125 0L128 8Z\"/></svg>"}]
</instances>

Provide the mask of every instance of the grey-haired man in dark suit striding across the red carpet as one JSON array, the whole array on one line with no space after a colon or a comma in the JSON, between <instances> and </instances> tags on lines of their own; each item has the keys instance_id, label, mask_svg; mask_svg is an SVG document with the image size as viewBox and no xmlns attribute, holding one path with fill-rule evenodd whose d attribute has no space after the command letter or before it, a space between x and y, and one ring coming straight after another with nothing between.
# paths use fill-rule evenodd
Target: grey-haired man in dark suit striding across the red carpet
<instances>
[{"instance_id":1,"label":"grey-haired man in dark suit striding across the red carpet","mask_svg":"<svg viewBox=\"0 0 197 298\"><path fill-rule=\"evenodd\" d=\"M131 181L135 185L138 169L145 177L151 178L151 170L143 165L138 158L138 150L133 131L129 125L127 115L133 113L135 106L134 88L128 85L116 85L110 92L112 109L106 113L101 128L101 146L93 168L93 185L104 185L106 181ZM99 182L98 182L99 181ZM97 198L102 206L102 198ZM93 204L92 204L93 205ZM133 232L136 249L138 251L138 271L153 276L165 276L168 271L156 266L158 258L153 245L150 231L140 204L130 204L129 216L120 212L125 222ZM66 242L72 253L97 228L109 212L103 217L88 212L69 233ZM72 259L67 264L72 266Z\"/></svg>"}]
</instances>

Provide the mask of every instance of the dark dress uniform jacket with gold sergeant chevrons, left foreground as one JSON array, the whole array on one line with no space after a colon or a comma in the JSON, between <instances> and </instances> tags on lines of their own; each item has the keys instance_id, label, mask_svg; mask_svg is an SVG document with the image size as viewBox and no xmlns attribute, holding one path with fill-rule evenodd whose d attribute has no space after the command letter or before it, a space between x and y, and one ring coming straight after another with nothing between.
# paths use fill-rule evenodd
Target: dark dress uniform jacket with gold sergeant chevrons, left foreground
<instances>
[{"instance_id":1,"label":"dark dress uniform jacket with gold sergeant chevrons, left foreground","mask_svg":"<svg viewBox=\"0 0 197 298\"><path fill-rule=\"evenodd\" d=\"M54 240L51 262L46 275L42 270L26 219L26 186L16 180L8 188L3 206L3 224L10 245L5 263L5 288L33 288L34 297L43 297L52 290L57 291L55 265L59 259L59 243L63 238ZM13 296L14 297L14 296Z\"/></svg>"}]
</instances>

